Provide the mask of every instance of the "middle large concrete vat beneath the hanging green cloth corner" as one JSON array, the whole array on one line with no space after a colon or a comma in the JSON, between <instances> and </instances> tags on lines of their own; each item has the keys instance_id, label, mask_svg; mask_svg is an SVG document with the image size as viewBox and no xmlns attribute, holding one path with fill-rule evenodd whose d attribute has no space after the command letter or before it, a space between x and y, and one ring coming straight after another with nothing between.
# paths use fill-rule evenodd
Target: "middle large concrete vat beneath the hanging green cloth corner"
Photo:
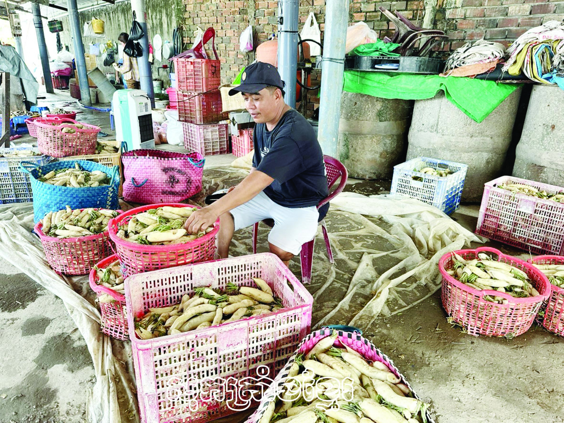
<instances>
[{"instance_id":1,"label":"middle large concrete vat beneath the hanging green cloth corner","mask_svg":"<svg viewBox=\"0 0 564 423\"><path fill-rule=\"evenodd\" d=\"M407 160L422 156L468 165L462 201L480 201L484 183L501 176L519 98L521 88L479 124L449 102L442 91L432 99L416 100Z\"/></svg>"}]
</instances>

